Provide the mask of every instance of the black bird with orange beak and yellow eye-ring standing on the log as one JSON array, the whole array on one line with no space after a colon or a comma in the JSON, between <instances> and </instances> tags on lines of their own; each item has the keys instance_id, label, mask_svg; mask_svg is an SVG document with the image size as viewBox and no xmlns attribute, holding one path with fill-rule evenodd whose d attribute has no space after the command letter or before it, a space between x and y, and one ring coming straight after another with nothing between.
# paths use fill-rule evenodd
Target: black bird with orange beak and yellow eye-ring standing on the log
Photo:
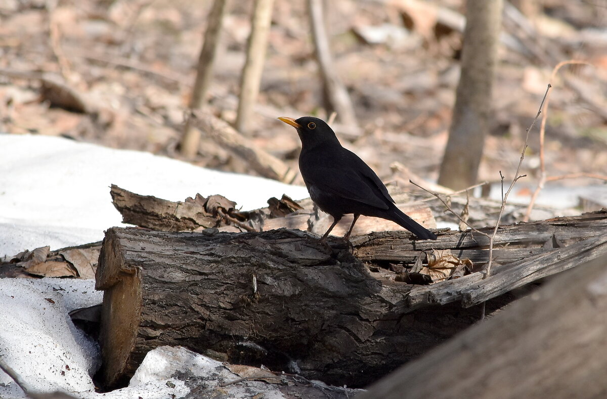
<instances>
[{"instance_id":1,"label":"black bird with orange beak and yellow eye-ring standing on the log","mask_svg":"<svg viewBox=\"0 0 607 399\"><path fill-rule=\"evenodd\" d=\"M312 116L299 119L280 116L281 121L297 129L302 141L299 170L302 173L310 198L324 212L333 216L333 224L322 236L325 241L329 232L347 213L354 214L354 223L360 215L392 220L422 240L436 240L436 235L422 227L398 209L378 175L345 149L325 121Z\"/></svg>"}]
</instances>

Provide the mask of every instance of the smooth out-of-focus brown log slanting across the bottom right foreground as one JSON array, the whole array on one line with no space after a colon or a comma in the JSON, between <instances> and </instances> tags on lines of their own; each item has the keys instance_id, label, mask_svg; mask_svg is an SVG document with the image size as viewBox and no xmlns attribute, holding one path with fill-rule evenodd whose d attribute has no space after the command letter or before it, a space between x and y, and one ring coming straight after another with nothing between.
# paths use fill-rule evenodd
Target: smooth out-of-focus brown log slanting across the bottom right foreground
<instances>
[{"instance_id":1,"label":"smooth out-of-focus brown log slanting across the bottom right foreground","mask_svg":"<svg viewBox=\"0 0 607 399\"><path fill-rule=\"evenodd\" d=\"M563 273L356 399L605 397L606 265Z\"/></svg>"}]
</instances>

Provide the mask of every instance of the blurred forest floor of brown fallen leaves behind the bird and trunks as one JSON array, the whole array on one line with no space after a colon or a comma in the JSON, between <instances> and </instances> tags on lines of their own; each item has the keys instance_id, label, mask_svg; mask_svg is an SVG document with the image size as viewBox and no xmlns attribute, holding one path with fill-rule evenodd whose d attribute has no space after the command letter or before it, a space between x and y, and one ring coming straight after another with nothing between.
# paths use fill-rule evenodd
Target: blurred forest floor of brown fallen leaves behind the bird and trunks
<instances>
[{"instance_id":1,"label":"blurred forest floor of brown fallen leaves behind the bird and trunks","mask_svg":"<svg viewBox=\"0 0 607 399\"><path fill-rule=\"evenodd\" d=\"M202 132L194 158L178 150L212 4L0 1L0 130L61 135L259 174L209 132ZM253 7L253 1L226 2L202 99L206 111L232 126ZM299 138L277 116L328 119L330 113L307 2L275 0L272 9L259 96L240 133L297 171ZM464 10L464 0L324 3L333 70L359 126L338 115L337 136L385 182L409 184L409 173L438 178L459 79ZM605 173L605 21L605 0L504 1L479 181L499 181L500 170L512 178L548 83L546 173ZM551 78L555 65L571 59L585 64L564 65ZM521 170L532 179L540 167L538 127ZM558 184L597 183L577 176ZM293 181L302 183L299 175Z\"/></svg>"}]
</instances>

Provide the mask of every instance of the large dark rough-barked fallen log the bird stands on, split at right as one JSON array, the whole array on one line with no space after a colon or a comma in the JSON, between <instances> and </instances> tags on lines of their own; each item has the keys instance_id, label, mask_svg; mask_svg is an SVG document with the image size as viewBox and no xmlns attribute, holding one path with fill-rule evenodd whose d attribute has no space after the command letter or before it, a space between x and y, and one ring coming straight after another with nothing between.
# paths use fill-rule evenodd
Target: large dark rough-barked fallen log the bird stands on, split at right
<instances>
[{"instance_id":1,"label":"large dark rough-barked fallen log the bird stands on, split at right","mask_svg":"<svg viewBox=\"0 0 607 399\"><path fill-rule=\"evenodd\" d=\"M526 227L533 225L540 232L532 234L538 246L544 238L544 244L568 244L541 249L538 256L544 258L538 260L547 264L527 273L528 283L575 266L575 250L592 249L580 253L584 259L607 253L606 221L607 212L597 212L546 221L543 229L542 223L507 226L496 242L504 243L508 236L516 243L516 229L524 236L531 234ZM393 250L410 246L418 253L430 247L456 251L474 243L481 253L486 245L470 232L447 233L430 245L406 236L392 232L356 237L354 253L364 253L374 240L391 243ZM571 253L563 257L568 249ZM387 252L384 248L381 253ZM385 263L383 258L376 259ZM520 261L511 268L516 273ZM97 269L97 289L105 291L103 381L112 386L125 380L154 347L181 345L230 363L263 363L338 386L362 386L477 321L478 309L462 309L458 303L466 293L489 287L485 281L500 281L506 289L520 285L512 279L482 280L483 274L476 272L412 286L367 262L342 241L322 246L297 230L109 229ZM542 268L545 272L538 273ZM509 264L494 270L495 278L506 276ZM489 311L512 299L498 296L502 291L482 292Z\"/></svg>"}]
</instances>

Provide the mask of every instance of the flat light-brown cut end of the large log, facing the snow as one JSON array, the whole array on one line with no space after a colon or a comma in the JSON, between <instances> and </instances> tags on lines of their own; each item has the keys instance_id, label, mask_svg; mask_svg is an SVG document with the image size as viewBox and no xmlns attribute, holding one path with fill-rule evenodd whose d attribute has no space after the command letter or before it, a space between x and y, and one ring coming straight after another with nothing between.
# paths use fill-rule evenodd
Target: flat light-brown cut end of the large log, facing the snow
<instances>
[{"instance_id":1,"label":"flat light-brown cut end of the large log, facing the snow","mask_svg":"<svg viewBox=\"0 0 607 399\"><path fill-rule=\"evenodd\" d=\"M103 290L100 342L101 375L108 386L121 383L135 347L141 318L141 274L124 260L113 229L107 230L99 255L95 289Z\"/></svg>"}]
</instances>

